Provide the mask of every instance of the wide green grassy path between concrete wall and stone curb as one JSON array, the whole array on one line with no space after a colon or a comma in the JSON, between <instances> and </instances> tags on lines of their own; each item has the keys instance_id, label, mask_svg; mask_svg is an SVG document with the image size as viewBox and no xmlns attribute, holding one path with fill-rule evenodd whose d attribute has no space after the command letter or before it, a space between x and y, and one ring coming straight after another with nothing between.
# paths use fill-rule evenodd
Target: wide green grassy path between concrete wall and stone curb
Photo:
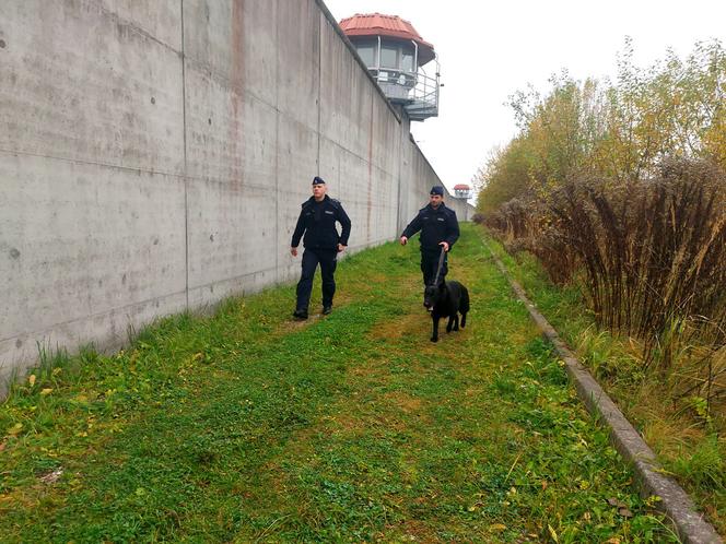
<instances>
[{"instance_id":1,"label":"wide green grassy path between concrete wall and stone curb","mask_svg":"<svg viewBox=\"0 0 726 544\"><path fill-rule=\"evenodd\" d=\"M0 540L669 542L479 236L438 344L387 245L326 318L288 286L48 364L0 406Z\"/></svg>"}]
</instances>

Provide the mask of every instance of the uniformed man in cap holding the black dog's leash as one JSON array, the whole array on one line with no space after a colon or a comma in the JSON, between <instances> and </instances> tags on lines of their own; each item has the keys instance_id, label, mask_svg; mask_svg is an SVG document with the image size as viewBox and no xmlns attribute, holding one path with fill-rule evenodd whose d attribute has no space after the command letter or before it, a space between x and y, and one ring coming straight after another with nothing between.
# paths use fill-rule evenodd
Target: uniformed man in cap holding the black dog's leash
<instances>
[{"instance_id":1,"label":"uniformed man in cap holding the black dog's leash","mask_svg":"<svg viewBox=\"0 0 726 544\"><path fill-rule=\"evenodd\" d=\"M440 281L444 281L448 272L448 251L459 239L459 222L456 212L444 204L444 188L434 186L429 192L429 204L419 210L413 221L408 224L401 234L401 246L408 244L408 239L421 230L421 272L423 272L423 284L431 285L436 277L438 257L444 248L446 256L442 265Z\"/></svg>"}]
</instances>

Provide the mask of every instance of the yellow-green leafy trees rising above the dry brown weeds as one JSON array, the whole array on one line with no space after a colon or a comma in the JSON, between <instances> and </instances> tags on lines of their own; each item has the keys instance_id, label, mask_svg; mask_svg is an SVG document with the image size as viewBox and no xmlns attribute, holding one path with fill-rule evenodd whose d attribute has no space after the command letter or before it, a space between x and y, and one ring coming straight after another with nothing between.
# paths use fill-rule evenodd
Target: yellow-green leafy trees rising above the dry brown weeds
<instances>
[{"instance_id":1,"label":"yellow-green leafy trees rising above the dry brown weeds","mask_svg":"<svg viewBox=\"0 0 726 544\"><path fill-rule=\"evenodd\" d=\"M684 60L669 51L633 66L632 43L614 83L552 76L544 96L513 95L520 133L478 175L477 208L491 213L512 198L546 199L569 180L647 179L666 157L726 166L726 50L699 43Z\"/></svg>"}]
</instances>

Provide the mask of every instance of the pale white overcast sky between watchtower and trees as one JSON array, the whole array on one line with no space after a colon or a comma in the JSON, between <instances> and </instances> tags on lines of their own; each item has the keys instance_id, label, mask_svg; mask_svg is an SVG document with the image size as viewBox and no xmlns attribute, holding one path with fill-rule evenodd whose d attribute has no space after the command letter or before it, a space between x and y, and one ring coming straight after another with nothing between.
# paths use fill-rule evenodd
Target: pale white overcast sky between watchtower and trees
<instances>
[{"instance_id":1,"label":"pale white overcast sky between watchtower and trees","mask_svg":"<svg viewBox=\"0 0 726 544\"><path fill-rule=\"evenodd\" d=\"M516 132L504 105L531 83L567 69L577 80L614 78L625 36L637 66L699 40L726 43L726 0L324 0L338 21L399 15L434 45L441 62L440 117L411 132L444 184L469 184L490 150Z\"/></svg>"}]
</instances>

